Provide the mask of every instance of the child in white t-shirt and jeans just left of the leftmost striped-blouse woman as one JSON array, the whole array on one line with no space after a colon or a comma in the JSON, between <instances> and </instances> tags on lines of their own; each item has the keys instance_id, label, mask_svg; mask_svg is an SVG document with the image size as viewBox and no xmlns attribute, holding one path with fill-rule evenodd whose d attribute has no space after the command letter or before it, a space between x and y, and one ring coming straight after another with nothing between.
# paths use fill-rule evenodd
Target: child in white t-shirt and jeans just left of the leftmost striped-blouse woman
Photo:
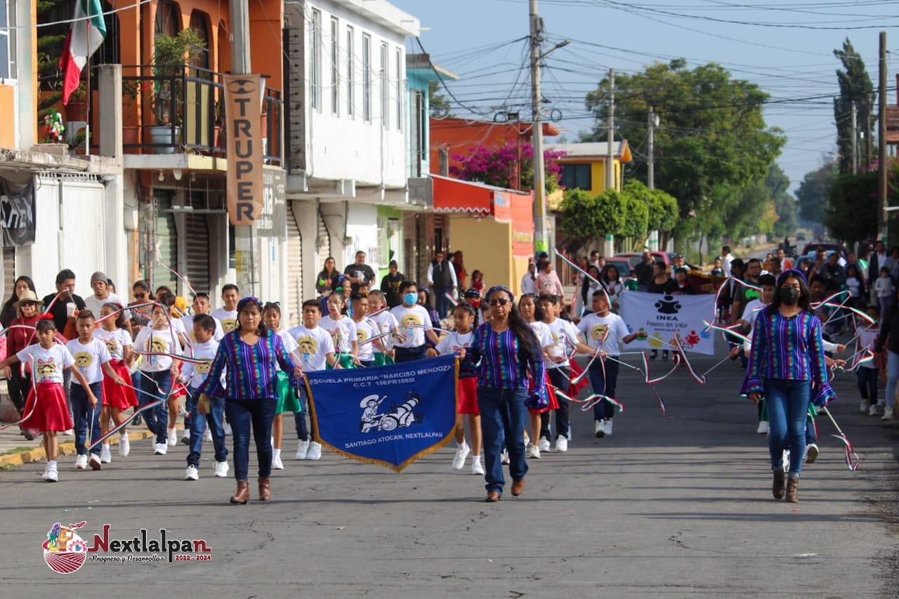
<instances>
[{"instance_id":1,"label":"child in white t-shirt and jeans just left of the leftmost striped-blouse woman","mask_svg":"<svg viewBox=\"0 0 899 599\"><path fill-rule=\"evenodd\" d=\"M193 359L202 360L198 364L185 360L181 371L181 380L187 384L190 395L187 399L188 422L191 425L190 447L187 454L187 470L184 480L200 478L200 456L203 450L203 434L206 426L212 433L212 446L216 452L216 463L213 474L227 477L227 447L225 446L225 398L209 397L209 405L200 406L200 385L209 376L209 365L218 352L218 341L215 339L216 322L209 314L198 314L193 318L191 337L193 343ZM224 381L222 382L224 386Z\"/></svg>"}]
</instances>

